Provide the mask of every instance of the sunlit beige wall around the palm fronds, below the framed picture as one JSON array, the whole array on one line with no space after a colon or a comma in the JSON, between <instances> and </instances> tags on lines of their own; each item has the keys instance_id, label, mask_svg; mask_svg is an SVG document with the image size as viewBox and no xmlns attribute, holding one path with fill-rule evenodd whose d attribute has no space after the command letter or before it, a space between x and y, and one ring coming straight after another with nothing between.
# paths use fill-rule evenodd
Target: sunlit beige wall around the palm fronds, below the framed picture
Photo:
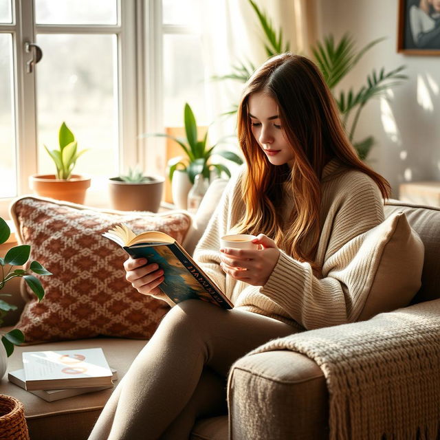
<instances>
[{"instance_id":1,"label":"sunlit beige wall around the palm fronds, below the framed picture","mask_svg":"<svg viewBox=\"0 0 440 440\"><path fill-rule=\"evenodd\" d=\"M371 166L390 181L393 197L403 181L440 180L440 56L398 54L398 0L317 0L320 36L350 32L363 47L386 36L344 80L357 90L373 68L406 65L409 77L388 99L375 99L361 113L356 138L373 135Z\"/></svg>"}]
</instances>

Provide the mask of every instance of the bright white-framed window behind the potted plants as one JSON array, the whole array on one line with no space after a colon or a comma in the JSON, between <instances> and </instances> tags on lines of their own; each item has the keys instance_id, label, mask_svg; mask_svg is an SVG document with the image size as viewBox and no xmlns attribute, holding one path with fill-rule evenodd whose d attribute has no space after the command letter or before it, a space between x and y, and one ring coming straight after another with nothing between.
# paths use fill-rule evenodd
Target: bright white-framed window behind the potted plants
<instances>
[{"instance_id":1,"label":"bright white-framed window behind the potted plants","mask_svg":"<svg viewBox=\"0 0 440 440\"><path fill-rule=\"evenodd\" d=\"M54 174L43 145L62 122L89 150L75 168L92 176L86 203L105 206L107 178L129 166L164 173L164 140L142 133L182 126L185 102L212 121L201 1L0 0L1 216L30 175Z\"/></svg>"}]
</instances>

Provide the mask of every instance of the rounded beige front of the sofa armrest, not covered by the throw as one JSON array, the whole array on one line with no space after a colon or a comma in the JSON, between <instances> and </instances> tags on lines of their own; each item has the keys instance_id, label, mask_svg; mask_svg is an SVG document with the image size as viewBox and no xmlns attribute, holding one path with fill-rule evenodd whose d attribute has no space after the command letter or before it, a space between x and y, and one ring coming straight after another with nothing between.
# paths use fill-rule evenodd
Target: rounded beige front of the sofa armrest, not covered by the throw
<instances>
[{"instance_id":1,"label":"rounded beige front of the sofa armrest, not covered by the throw","mask_svg":"<svg viewBox=\"0 0 440 440\"><path fill-rule=\"evenodd\" d=\"M325 377L306 356L245 356L228 381L230 439L327 439L328 401Z\"/></svg>"}]
</instances>

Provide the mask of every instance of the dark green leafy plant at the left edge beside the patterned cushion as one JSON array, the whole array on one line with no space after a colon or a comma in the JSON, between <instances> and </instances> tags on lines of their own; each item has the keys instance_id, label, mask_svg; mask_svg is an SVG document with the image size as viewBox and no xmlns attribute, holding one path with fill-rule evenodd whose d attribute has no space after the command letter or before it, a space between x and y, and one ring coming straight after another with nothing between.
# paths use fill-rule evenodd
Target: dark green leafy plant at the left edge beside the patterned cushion
<instances>
[{"instance_id":1,"label":"dark green leafy plant at the left edge beside the patterned cushion","mask_svg":"<svg viewBox=\"0 0 440 440\"><path fill-rule=\"evenodd\" d=\"M8 223L6 223L0 217L0 244L5 243L10 236L10 228ZM14 266L23 266L29 259L30 256L30 245L19 245L11 248L6 252L4 258L0 258L1 276L0 276L0 290L5 287L5 284L12 278L21 277L25 279L28 286L32 289L32 292L36 294L39 301L43 299L44 289L36 276L32 275L32 272L39 275L52 275L51 272L45 270L45 268L38 263L38 261L32 261L30 263L29 269L16 269L12 270ZM5 273L5 266L9 265L10 268L8 272ZM0 296L10 296L9 294L0 294ZM3 318L10 310L16 310L17 307L0 300L0 326L3 324ZM14 329L8 333L4 333L1 337L1 342L5 347L6 354L8 357L14 351L14 345L20 345L24 342L25 337L19 329Z\"/></svg>"}]
</instances>

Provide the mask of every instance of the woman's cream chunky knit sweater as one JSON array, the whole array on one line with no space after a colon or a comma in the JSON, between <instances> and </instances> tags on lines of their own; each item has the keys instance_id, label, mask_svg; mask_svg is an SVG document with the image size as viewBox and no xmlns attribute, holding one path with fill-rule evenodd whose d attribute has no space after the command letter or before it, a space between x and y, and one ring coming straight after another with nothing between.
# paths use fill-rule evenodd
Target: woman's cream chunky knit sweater
<instances>
[{"instance_id":1,"label":"woman's cream chunky knit sweater","mask_svg":"<svg viewBox=\"0 0 440 440\"><path fill-rule=\"evenodd\" d=\"M344 245L384 221L380 190L369 176L332 160L323 170L321 191L316 263L322 267L322 278L314 276L309 263L281 250L267 283L256 287L226 276L219 265L219 239L245 210L241 173L230 180L194 256L236 308L287 322L298 331L353 322L359 316L365 300L355 282L360 268L349 264ZM285 199L292 204L292 197Z\"/></svg>"}]
</instances>

